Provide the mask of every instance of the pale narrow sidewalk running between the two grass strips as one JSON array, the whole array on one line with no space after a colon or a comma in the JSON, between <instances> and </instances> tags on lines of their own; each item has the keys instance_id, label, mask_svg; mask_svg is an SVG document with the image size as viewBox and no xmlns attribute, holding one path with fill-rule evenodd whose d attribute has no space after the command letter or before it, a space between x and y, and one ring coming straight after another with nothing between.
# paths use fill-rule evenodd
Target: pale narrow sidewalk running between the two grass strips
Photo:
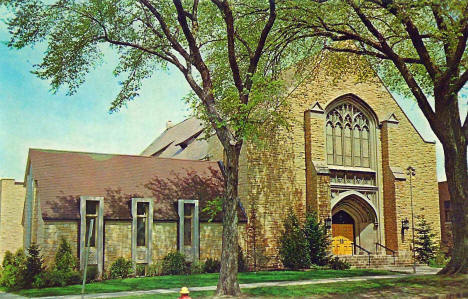
<instances>
[{"instance_id":1,"label":"pale narrow sidewalk running between the two grass strips","mask_svg":"<svg viewBox=\"0 0 468 299\"><path fill-rule=\"evenodd\" d=\"M411 274L395 274L395 275L377 275L377 276L358 276L358 277L340 277L340 278L327 278L327 279L313 279L313 280L295 280L295 281L271 281L271 282L258 282L258 283L243 283L240 284L241 289L253 289L260 287L284 287L284 286L297 286L297 285L312 285L312 284L323 284L333 282L346 282L346 281L366 281L375 279L386 279L386 278L401 278L409 277L414 275L432 275L436 274L440 269L430 267L418 267L417 273L412 274L412 268L392 268L393 271L408 272ZM214 291L216 286L206 287L191 287L190 292L196 291ZM156 294L173 294L178 293L180 288L177 289L156 289L148 291L128 291L128 292L115 292L115 293L99 293L99 294L88 294L83 297L81 295L68 295L68 296L51 296L51 297L40 297L42 299L81 299L81 298L117 298L126 296L137 296L137 295L156 295ZM1 293L0 299L21 299L26 298L18 295L9 293Z\"/></svg>"}]
</instances>

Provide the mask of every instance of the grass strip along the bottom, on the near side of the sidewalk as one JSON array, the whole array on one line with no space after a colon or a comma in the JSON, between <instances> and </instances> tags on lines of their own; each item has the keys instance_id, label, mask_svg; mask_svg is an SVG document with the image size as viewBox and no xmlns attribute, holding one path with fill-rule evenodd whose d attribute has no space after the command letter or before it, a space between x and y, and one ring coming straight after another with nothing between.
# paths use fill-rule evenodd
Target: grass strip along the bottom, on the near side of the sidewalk
<instances>
[{"instance_id":1,"label":"grass strip along the bottom, on the near side of the sidewalk","mask_svg":"<svg viewBox=\"0 0 468 299\"><path fill-rule=\"evenodd\" d=\"M468 276L444 277L426 275L398 279L379 279L366 282L356 281L287 287L262 287L244 289L242 292L249 298L305 296L317 296L319 298L407 298L415 295L434 296L436 294L465 294L465 296L467 296ZM196 299L210 297L213 296L213 294L213 291L192 292L190 296ZM175 294L153 294L123 297L123 299L169 299L175 298L174 295Z\"/></svg>"}]
</instances>

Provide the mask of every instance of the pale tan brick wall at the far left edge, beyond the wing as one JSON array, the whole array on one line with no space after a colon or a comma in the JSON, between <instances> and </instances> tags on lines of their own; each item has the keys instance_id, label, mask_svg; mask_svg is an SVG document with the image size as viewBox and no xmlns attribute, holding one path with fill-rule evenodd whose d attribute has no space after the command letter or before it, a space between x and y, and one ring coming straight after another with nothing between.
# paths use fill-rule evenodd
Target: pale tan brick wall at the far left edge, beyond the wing
<instances>
[{"instance_id":1,"label":"pale tan brick wall at the far left edge, beyond the wing","mask_svg":"<svg viewBox=\"0 0 468 299\"><path fill-rule=\"evenodd\" d=\"M13 179L0 180L0 261L5 251L23 247L23 217L26 189Z\"/></svg>"}]
</instances>

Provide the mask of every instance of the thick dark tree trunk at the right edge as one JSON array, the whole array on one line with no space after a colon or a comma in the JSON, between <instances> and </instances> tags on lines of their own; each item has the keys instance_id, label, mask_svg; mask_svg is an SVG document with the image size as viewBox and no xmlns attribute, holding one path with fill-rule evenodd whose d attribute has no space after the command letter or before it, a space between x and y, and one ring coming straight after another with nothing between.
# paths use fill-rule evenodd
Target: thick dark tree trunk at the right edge
<instances>
[{"instance_id":1,"label":"thick dark tree trunk at the right edge","mask_svg":"<svg viewBox=\"0 0 468 299\"><path fill-rule=\"evenodd\" d=\"M468 168L466 137L460 122L458 101L444 101L436 132L444 148L445 173L451 201L453 249L450 262L439 274L468 273ZM448 103L448 104L447 104ZM454 105L457 105L454 107ZM442 224L443 225L443 224Z\"/></svg>"}]
</instances>

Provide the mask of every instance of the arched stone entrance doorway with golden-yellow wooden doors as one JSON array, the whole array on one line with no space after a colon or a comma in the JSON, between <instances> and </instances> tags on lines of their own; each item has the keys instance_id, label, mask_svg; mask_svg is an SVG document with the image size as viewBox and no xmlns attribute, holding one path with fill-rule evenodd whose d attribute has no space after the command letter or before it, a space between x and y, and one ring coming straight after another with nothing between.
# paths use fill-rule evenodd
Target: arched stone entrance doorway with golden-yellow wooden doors
<instances>
[{"instance_id":1,"label":"arched stone entrance doorway with golden-yellow wooden doors","mask_svg":"<svg viewBox=\"0 0 468 299\"><path fill-rule=\"evenodd\" d=\"M347 191L332 200L332 252L335 255L353 254L355 243L368 251L375 251L377 238L377 210L364 195Z\"/></svg>"}]
</instances>

